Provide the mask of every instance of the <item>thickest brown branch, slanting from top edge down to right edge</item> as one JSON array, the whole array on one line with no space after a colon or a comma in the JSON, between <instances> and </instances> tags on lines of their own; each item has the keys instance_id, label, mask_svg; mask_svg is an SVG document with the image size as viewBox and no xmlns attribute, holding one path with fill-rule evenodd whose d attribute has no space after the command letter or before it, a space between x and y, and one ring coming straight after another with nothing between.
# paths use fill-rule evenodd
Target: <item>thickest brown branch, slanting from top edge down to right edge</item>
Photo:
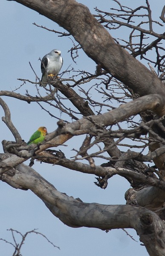
<instances>
[{"instance_id":1,"label":"thickest brown branch, slanting from top edge down to right edge","mask_svg":"<svg viewBox=\"0 0 165 256\"><path fill-rule=\"evenodd\" d=\"M162 82L116 44L86 6L75 0L16 2L48 17L70 32L90 58L101 64L107 72L126 84L134 93L140 96L158 93L165 97Z\"/></svg>"}]
</instances>

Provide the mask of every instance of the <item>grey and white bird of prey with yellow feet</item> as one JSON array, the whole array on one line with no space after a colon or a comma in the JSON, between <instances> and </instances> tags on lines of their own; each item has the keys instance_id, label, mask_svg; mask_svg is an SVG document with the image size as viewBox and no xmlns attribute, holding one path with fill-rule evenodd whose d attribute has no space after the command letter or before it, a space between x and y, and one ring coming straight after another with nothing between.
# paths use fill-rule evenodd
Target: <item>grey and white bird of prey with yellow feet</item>
<instances>
[{"instance_id":1,"label":"grey and white bird of prey with yellow feet","mask_svg":"<svg viewBox=\"0 0 165 256\"><path fill-rule=\"evenodd\" d=\"M40 86L46 87L48 78L57 76L61 70L63 64L63 58L61 57L61 51L54 49L46 54L41 61L41 84Z\"/></svg>"}]
</instances>

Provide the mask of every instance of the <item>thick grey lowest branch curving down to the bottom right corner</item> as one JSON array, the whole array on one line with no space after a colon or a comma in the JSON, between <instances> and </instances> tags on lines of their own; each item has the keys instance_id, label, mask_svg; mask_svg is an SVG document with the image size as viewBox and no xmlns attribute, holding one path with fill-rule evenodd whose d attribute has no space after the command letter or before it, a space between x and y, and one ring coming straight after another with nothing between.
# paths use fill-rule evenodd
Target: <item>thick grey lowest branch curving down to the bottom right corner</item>
<instances>
[{"instance_id":1,"label":"thick grey lowest branch curving down to the bottom right corner","mask_svg":"<svg viewBox=\"0 0 165 256\"><path fill-rule=\"evenodd\" d=\"M38 173L34 177L34 173L30 167L25 168L23 165L23 172L16 170L14 176L3 174L2 180L7 183L15 182L20 187L32 190L53 215L70 227L95 227L101 230L134 228L151 256L165 255L164 224L155 213L132 205L83 203L58 192Z\"/></svg>"}]
</instances>

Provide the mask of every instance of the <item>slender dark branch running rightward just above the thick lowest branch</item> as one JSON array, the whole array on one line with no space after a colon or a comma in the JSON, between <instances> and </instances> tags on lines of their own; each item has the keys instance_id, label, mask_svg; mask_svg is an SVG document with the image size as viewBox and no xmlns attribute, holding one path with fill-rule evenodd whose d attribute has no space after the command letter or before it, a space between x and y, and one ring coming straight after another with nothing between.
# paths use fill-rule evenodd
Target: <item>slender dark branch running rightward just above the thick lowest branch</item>
<instances>
[{"instance_id":1,"label":"slender dark branch running rightward just above the thick lowest branch","mask_svg":"<svg viewBox=\"0 0 165 256\"><path fill-rule=\"evenodd\" d=\"M95 166L95 168L91 168L90 165L76 162L73 160L69 160L67 158L58 159L58 157L53 156L53 154L43 151L41 152L37 157L35 157L37 160L42 161L44 163L51 163L53 165L60 165L63 167L66 167L71 170L75 170L77 172L86 173L86 174L93 174L98 177L104 177L106 179L109 179L110 177L113 177L114 175L120 175L124 178L126 178L128 181L131 180L131 183L141 183L148 186L155 186L159 189L162 189L162 193L165 191L165 182L162 180L159 180L156 178L156 176L151 177L147 173L136 172L135 170L130 170L128 168L123 167L102 167L102 166ZM120 162L119 162L120 165ZM154 194L153 194L153 197ZM141 205L141 204L139 204ZM144 206L144 205L142 205ZM151 208L150 208L151 209Z\"/></svg>"}]
</instances>

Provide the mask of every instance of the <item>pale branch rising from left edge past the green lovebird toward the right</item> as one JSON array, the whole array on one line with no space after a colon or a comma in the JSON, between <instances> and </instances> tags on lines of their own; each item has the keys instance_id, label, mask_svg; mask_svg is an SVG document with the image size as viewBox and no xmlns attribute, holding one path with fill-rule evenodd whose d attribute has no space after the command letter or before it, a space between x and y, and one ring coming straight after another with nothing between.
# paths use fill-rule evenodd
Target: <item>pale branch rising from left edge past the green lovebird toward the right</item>
<instances>
[{"instance_id":1,"label":"pale branch rising from left edge past the green lovebird toward the right","mask_svg":"<svg viewBox=\"0 0 165 256\"><path fill-rule=\"evenodd\" d=\"M101 129L103 126L113 125L116 122L120 122L123 119L142 111L148 109L161 109L163 105L162 101L163 99L159 95L143 96L132 102L122 104L119 106L119 108L99 116L88 116L85 119L83 118L67 125L58 122L58 129L46 136L46 142L40 145L39 150L35 152L34 147L32 147L33 150L28 153L24 146L20 147L20 157L13 155L11 159L9 157L9 159L1 162L0 173L4 173L9 170L10 167L14 167L19 163L23 163L25 160L32 157L34 152L37 155L39 152L45 150L46 148L62 145L74 135L87 134L92 132L94 127ZM31 145L29 148L31 148Z\"/></svg>"}]
</instances>

